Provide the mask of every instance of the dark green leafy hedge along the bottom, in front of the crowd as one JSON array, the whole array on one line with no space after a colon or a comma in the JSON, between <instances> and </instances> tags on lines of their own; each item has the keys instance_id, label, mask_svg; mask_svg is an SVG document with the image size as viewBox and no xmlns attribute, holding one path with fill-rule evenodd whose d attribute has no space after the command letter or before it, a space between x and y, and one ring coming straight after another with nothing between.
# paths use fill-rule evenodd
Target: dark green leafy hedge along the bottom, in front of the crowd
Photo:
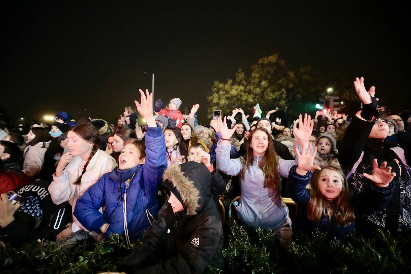
<instances>
[{"instance_id":1,"label":"dark green leafy hedge along the bottom, in front of the crowd","mask_svg":"<svg viewBox=\"0 0 411 274\"><path fill-rule=\"evenodd\" d=\"M115 271L131 247L112 235L104 243L84 241L76 246L31 242L22 249L6 245L0 251L1 273L98 273ZM247 231L234 224L226 233L224 269L208 267L206 273L409 273L411 235L394 238L379 232L375 239L351 233L330 240L315 231L279 246L274 232Z\"/></svg>"}]
</instances>

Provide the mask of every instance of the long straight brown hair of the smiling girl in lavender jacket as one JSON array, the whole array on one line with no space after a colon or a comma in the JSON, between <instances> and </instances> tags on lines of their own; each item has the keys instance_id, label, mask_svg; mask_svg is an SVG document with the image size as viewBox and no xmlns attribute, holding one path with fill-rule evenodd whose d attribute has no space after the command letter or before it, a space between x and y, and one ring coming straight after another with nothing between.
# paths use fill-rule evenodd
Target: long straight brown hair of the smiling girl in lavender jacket
<instances>
[{"instance_id":1,"label":"long straight brown hair of the smiling girl in lavender jacket","mask_svg":"<svg viewBox=\"0 0 411 274\"><path fill-rule=\"evenodd\" d=\"M267 129L264 129L262 127L259 127L258 129L254 129L250 132L250 135L248 137L249 143L248 143L247 155L242 160L242 163L244 164L244 166L242 167L242 170L240 172L240 178L244 180L245 170L249 166L252 166L253 164L254 153L251 147L251 140L254 134L259 130L267 134L267 138L268 138L268 147L267 147L266 153L264 154L263 159L259 163L259 168L263 170L263 174L264 174L264 187L268 187L271 189L279 189L279 176L278 176L278 169L277 169L278 167L277 152L275 152L274 145L272 143L270 134L268 133Z\"/></svg>"}]
</instances>

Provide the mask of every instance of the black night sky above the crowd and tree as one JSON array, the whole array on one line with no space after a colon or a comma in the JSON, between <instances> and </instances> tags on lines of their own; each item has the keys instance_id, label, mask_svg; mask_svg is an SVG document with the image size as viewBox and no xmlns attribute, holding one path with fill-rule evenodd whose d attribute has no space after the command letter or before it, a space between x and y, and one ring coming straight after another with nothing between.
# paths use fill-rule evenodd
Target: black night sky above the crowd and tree
<instances>
[{"instance_id":1,"label":"black night sky above the crowd and tree","mask_svg":"<svg viewBox=\"0 0 411 274\"><path fill-rule=\"evenodd\" d=\"M400 4L10 2L1 12L0 105L12 120L67 111L115 123L139 88L151 89L147 71L155 99L199 103L205 123L213 81L272 53L290 68L364 76L383 105L410 107L410 20Z\"/></svg>"}]
</instances>

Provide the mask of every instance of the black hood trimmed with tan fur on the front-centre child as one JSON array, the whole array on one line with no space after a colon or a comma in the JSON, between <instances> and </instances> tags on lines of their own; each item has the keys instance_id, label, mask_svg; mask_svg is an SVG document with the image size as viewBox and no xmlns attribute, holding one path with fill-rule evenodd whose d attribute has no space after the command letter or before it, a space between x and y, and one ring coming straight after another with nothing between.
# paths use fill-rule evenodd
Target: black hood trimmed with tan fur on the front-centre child
<instances>
[{"instance_id":1,"label":"black hood trimmed with tan fur on the front-centre child","mask_svg":"<svg viewBox=\"0 0 411 274\"><path fill-rule=\"evenodd\" d=\"M211 174L201 163L171 165L163 175L163 187L180 200L187 215L197 214L211 198Z\"/></svg>"}]
</instances>

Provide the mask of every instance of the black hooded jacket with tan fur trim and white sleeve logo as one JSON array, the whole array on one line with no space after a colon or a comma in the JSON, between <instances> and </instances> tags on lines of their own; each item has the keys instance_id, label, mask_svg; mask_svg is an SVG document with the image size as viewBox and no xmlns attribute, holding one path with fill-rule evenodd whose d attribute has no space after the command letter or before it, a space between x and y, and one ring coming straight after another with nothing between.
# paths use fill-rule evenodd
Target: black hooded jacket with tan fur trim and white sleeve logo
<instances>
[{"instance_id":1,"label":"black hooded jacket with tan fur trim and white sleeve logo","mask_svg":"<svg viewBox=\"0 0 411 274\"><path fill-rule=\"evenodd\" d=\"M164 203L143 244L119 269L140 274L203 273L208 264L221 269L222 221L211 198L210 171L196 162L172 165L163 180L185 210L174 214L168 201Z\"/></svg>"}]
</instances>

